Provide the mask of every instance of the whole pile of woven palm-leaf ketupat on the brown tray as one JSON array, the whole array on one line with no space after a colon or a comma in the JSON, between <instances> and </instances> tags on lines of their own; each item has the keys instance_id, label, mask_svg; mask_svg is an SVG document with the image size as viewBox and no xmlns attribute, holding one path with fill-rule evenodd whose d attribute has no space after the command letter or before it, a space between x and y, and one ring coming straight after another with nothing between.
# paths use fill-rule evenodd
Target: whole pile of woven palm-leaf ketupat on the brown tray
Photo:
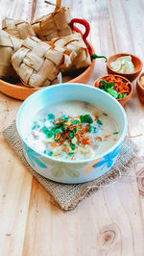
<instances>
[{"instance_id":1,"label":"whole pile of woven palm-leaf ketupat on the brown tray","mask_svg":"<svg viewBox=\"0 0 144 256\"><path fill-rule=\"evenodd\" d=\"M59 0L54 13L42 16L32 25L12 18L3 20L0 59L5 60L4 67L0 64L0 77L12 77L15 70L28 87L49 86L60 72L91 64L82 35L72 31L69 9L60 8Z\"/></svg>"}]
</instances>

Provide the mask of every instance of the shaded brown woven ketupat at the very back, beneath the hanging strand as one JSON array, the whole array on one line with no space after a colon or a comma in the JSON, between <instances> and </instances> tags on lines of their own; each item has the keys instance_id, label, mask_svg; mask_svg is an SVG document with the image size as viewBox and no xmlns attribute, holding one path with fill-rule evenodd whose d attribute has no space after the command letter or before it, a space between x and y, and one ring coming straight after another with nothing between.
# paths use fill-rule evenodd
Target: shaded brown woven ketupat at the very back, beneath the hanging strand
<instances>
[{"instance_id":1,"label":"shaded brown woven ketupat at the very back, beneath the hanging strand","mask_svg":"<svg viewBox=\"0 0 144 256\"><path fill-rule=\"evenodd\" d=\"M71 21L69 8L60 8L59 11L42 16L32 24L36 36L41 40L65 37L72 34L69 26Z\"/></svg>"}]
</instances>

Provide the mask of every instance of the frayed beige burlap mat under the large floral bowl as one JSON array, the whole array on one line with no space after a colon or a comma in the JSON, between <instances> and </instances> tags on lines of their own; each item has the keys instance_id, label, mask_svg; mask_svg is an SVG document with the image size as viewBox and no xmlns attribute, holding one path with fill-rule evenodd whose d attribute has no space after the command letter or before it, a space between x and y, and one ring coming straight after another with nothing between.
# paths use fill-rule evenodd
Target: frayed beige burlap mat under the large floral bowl
<instances>
[{"instance_id":1,"label":"frayed beige burlap mat under the large floral bowl","mask_svg":"<svg viewBox=\"0 0 144 256\"><path fill-rule=\"evenodd\" d=\"M36 177L38 182L42 184L42 186L50 192L51 195L53 195L54 199L60 205L60 208L65 211L74 209L79 202L81 202L91 192L96 192L101 186L108 185L115 181L115 179L119 178L120 172L126 172L131 166L131 161L136 149L135 144L126 139L123 143L123 147L116 164L107 174L84 184L64 185L42 177L31 166L29 166L22 151L21 141L17 134L15 121L13 121L12 124L3 132L3 135L23 164Z\"/></svg>"}]
</instances>

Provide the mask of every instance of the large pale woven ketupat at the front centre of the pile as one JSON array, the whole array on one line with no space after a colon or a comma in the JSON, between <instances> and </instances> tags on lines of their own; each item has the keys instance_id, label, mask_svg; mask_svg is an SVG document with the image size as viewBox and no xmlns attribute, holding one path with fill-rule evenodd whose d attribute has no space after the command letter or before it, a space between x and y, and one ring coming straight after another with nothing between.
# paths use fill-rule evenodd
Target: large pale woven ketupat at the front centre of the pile
<instances>
[{"instance_id":1,"label":"large pale woven ketupat at the front centre of the pile","mask_svg":"<svg viewBox=\"0 0 144 256\"><path fill-rule=\"evenodd\" d=\"M58 66L62 62L62 53L36 37L25 39L21 48L12 55L16 73L30 87L49 86L58 76Z\"/></svg>"}]
</instances>

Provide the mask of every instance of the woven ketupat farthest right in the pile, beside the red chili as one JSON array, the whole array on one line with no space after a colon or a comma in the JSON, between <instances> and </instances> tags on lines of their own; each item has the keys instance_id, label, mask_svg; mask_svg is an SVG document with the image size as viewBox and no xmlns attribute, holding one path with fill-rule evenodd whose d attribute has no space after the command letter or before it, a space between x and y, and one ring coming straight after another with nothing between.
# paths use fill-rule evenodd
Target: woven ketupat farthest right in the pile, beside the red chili
<instances>
[{"instance_id":1,"label":"woven ketupat farthest right in the pile, beside the red chili","mask_svg":"<svg viewBox=\"0 0 144 256\"><path fill-rule=\"evenodd\" d=\"M52 39L55 49L64 53L64 63L60 65L61 71L78 69L91 64L88 49L81 34L74 33L67 37Z\"/></svg>"}]
</instances>

